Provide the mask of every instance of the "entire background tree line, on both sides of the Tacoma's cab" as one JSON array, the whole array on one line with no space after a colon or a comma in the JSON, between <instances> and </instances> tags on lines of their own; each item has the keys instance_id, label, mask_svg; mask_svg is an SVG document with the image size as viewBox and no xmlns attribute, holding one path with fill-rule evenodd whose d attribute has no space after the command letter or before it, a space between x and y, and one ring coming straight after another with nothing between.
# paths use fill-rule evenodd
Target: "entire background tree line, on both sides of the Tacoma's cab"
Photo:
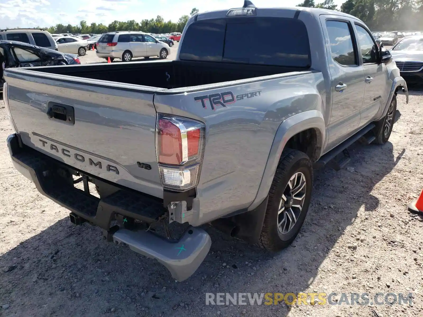
<instances>
[{"instance_id":1,"label":"entire background tree line, on both sides of the Tacoma's cab","mask_svg":"<svg viewBox=\"0 0 423 317\"><path fill-rule=\"evenodd\" d=\"M423 30L423 0L346 0L341 8L333 0L315 3L315 0L304 0L299 7L324 8L339 10L356 16L368 25L371 30ZM190 15L183 15L177 22L167 21L162 16L156 19L144 19L141 22L113 21L109 25L81 21L79 25L58 24L46 27L50 33L94 33L102 34L110 31L144 31L148 33L182 32L190 16L197 14L193 8Z\"/></svg>"}]
</instances>

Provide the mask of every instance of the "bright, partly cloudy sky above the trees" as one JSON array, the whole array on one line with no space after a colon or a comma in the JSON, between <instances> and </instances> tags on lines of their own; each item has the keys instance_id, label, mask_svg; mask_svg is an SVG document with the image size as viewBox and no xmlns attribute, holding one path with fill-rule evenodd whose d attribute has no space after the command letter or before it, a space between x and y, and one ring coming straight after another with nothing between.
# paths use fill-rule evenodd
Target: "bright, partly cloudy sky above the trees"
<instances>
[{"instance_id":1,"label":"bright, partly cloudy sky above the trees","mask_svg":"<svg viewBox=\"0 0 423 317\"><path fill-rule=\"evenodd\" d=\"M259 7L295 6L301 0L252 0ZM315 0L319 3L319 0ZM323 0L321 1L323 2ZM335 0L341 5L344 0ZM192 8L200 12L239 8L243 0L0 0L0 29L77 25L81 20L108 25L114 20L140 22L162 16L178 21Z\"/></svg>"}]
</instances>

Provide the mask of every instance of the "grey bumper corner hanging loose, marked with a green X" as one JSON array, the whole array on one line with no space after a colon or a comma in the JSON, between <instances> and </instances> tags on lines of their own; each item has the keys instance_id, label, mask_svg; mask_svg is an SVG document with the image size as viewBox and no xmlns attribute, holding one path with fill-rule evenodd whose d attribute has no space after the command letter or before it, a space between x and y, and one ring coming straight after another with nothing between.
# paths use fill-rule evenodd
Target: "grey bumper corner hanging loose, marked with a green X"
<instances>
[{"instance_id":1,"label":"grey bumper corner hanging loose, marked with a green X","mask_svg":"<svg viewBox=\"0 0 423 317\"><path fill-rule=\"evenodd\" d=\"M184 281L194 274L211 246L209 234L196 227L188 227L177 241L151 231L119 229L113 234L113 242L125 243L132 251L156 259L177 281Z\"/></svg>"}]
</instances>

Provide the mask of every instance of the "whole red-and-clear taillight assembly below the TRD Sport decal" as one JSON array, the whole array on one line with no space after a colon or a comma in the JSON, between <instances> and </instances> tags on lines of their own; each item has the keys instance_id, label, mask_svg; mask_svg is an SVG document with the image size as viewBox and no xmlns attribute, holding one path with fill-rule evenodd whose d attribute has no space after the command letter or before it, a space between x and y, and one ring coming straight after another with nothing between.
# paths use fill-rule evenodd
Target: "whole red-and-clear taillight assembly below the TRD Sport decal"
<instances>
[{"instance_id":1,"label":"whole red-and-clear taillight assembly below the TRD Sport decal","mask_svg":"<svg viewBox=\"0 0 423 317\"><path fill-rule=\"evenodd\" d=\"M184 191L198 184L205 132L199 121L158 115L156 150L163 188Z\"/></svg>"}]
</instances>

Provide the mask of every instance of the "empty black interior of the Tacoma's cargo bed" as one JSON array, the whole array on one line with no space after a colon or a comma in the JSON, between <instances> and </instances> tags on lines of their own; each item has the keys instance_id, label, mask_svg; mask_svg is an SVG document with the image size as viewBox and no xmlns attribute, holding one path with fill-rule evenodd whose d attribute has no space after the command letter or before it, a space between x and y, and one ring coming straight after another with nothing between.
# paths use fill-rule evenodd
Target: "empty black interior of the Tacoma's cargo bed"
<instances>
[{"instance_id":1,"label":"empty black interior of the Tacoma's cargo bed","mask_svg":"<svg viewBox=\"0 0 423 317\"><path fill-rule=\"evenodd\" d=\"M240 63L148 61L31 68L49 74L100 79L133 85L173 89L239 79L305 71L307 68Z\"/></svg>"}]
</instances>

